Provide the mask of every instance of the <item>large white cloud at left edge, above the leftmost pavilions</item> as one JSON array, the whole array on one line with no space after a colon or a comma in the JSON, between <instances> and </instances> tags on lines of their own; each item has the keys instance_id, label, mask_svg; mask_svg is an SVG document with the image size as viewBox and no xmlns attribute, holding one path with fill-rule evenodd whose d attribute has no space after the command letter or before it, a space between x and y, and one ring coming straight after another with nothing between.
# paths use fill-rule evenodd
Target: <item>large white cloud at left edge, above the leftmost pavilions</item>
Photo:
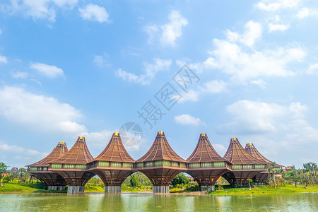
<instances>
[{"instance_id":1,"label":"large white cloud at left edge, above the leftmost pavilions","mask_svg":"<svg viewBox=\"0 0 318 212\"><path fill-rule=\"evenodd\" d=\"M0 116L34 129L78 134L86 127L76 123L81 113L55 98L5 86L0 90Z\"/></svg>"}]
</instances>

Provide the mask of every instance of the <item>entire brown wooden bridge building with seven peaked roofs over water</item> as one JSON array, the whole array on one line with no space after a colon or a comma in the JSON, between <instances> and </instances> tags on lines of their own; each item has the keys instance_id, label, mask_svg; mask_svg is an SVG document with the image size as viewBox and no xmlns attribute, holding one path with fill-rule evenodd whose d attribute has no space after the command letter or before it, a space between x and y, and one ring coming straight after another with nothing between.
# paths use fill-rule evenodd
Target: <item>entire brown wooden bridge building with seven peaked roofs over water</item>
<instances>
[{"instance_id":1,"label":"entire brown wooden bridge building with seven peaked roofs over water","mask_svg":"<svg viewBox=\"0 0 318 212\"><path fill-rule=\"evenodd\" d=\"M221 157L203 133L192 155L184 160L172 150L163 131L158 131L147 153L134 160L124 148L119 133L115 132L96 158L90 155L85 137L78 136L69 151L62 141L47 157L27 167L28 172L47 184L48 189L61 190L68 185L70 194L84 192L85 184L95 175L104 182L106 193L120 193L124 179L134 172L142 172L151 180L153 193L169 193L172 179L180 172L194 177L201 190L212 190L220 176L232 185L245 185L247 178L264 182L271 161L252 148L247 144L245 149L232 138L228 151Z\"/></svg>"}]
</instances>

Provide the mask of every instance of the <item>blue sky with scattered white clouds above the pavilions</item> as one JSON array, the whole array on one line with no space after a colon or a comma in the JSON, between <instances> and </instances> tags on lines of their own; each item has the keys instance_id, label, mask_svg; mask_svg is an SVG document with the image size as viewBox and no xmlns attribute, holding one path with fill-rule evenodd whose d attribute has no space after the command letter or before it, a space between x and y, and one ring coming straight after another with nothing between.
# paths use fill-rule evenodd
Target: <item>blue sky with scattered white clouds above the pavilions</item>
<instances>
[{"instance_id":1,"label":"blue sky with scattered white clouds above the pavilions","mask_svg":"<svg viewBox=\"0 0 318 212\"><path fill-rule=\"evenodd\" d=\"M162 130L184 159L205 132L220 155L235 136L282 165L318 162L317 1L12 0L0 11L11 167L80 135L96 157L126 122L143 129L126 146L135 160ZM196 76L184 90L180 69Z\"/></svg>"}]
</instances>

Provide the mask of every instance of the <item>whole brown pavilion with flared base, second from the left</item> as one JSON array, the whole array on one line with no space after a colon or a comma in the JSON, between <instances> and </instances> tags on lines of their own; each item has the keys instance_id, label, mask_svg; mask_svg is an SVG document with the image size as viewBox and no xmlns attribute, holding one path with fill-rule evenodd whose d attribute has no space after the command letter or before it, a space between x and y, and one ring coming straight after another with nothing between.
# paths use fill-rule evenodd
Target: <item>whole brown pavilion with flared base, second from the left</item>
<instances>
[{"instance_id":1,"label":"whole brown pavilion with flared base, second from the left","mask_svg":"<svg viewBox=\"0 0 318 212\"><path fill-rule=\"evenodd\" d=\"M84 186L88 180L95 176L88 172L86 163L94 160L86 146L85 137L78 136L73 147L57 160L49 163L49 170L57 172L68 184L68 193L84 192Z\"/></svg>"}]
</instances>

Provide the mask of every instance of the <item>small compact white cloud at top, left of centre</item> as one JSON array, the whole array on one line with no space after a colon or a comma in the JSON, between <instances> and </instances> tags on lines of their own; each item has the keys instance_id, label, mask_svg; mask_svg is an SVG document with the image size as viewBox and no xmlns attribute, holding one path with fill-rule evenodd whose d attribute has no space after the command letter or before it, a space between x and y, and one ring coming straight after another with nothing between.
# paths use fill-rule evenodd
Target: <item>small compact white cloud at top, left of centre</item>
<instances>
[{"instance_id":1,"label":"small compact white cloud at top, left of centre","mask_svg":"<svg viewBox=\"0 0 318 212\"><path fill-rule=\"evenodd\" d=\"M81 13L81 16L84 20L93 20L100 23L110 22L108 19L110 15L102 6L88 4L84 8L78 8L78 11Z\"/></svg>"}]
</instances>

